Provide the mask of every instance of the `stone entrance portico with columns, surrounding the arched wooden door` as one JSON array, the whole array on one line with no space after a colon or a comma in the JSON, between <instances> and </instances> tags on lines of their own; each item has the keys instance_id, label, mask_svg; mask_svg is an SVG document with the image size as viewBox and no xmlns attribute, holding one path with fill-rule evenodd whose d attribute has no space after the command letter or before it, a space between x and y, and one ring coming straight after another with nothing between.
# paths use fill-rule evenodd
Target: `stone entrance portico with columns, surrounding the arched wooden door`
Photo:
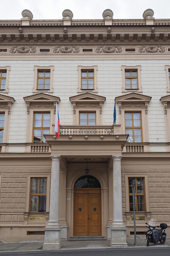
<instances>
[{"instance_id":1,"label":"stone entrance portico with columns, surrounding the arched wooden door","mask_svg":"<svg viewBox=\"0 0 170 256\"><path fill-rule=\"evenodd\" d=\"M91 170L90 175L98 179L101 184L101 179L106 180L106 184L103 182L101 186L102 201L100 217L102 219L102 232L100 234L109 238L109 236L106 234L106 230L108 225L111 224L110 212L112 212L113 223L110 225L110 246L127 246L126 227L124 226L124 222L122 220L121 204L121 151L126 143L127 135L65 134L60 135L60 139L56 139L54 135L45 136L46 141L51 147L52 170L50 211L52 212L49 213L49 222L44 228L45 240L43 249L60 249L61 239L66 240L74 235L74 184L77 178L83 176L85 169L82 168L82 166L85 166L83 159L91 159L91 163L89 163L90 165L88 166ZM107 161L102 164L102 159L107 159ZM64 179L61 179L61 177L59 177L59 170L61 174L64 168L66 170L66 175L64 175ZM101 168L103 168L102 171ZM110 169L113 169L113 175L108 175L108 170ZM109 184L112 184L112 182L108 180L111 177L113 177L112 188L109 187ZM66 198L61 196L61 190L66 191ZM113 194L110 195L110 193ZM109 209L109 198L112 198L113 200L113 204L111 206L113 209ZM62 204L61 200L64 199L65 202ZM92 199L90 198L89 200ZM82 207L79 207L79 209L80 208ZM93 208L97 209L97 207ZM65 216L62 214L63 211ZM65 218L65 225L61 224L60 216L62 216L62 224L64 224Z\"/></svg>"}]
</instances>

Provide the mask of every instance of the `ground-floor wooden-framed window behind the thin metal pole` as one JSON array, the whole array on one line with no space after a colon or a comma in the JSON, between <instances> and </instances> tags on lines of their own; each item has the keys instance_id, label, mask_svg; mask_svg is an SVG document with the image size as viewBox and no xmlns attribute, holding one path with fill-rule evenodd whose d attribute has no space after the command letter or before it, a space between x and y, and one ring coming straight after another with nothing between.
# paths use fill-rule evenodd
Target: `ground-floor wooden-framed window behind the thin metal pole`
<instances>
[{"instance_id":1,"label":"ground-floor wooden-framed window behind the thin metal pole","mask_svg":"<svg viewBox=\"0 0 170 256\"><path fill-rule=\"evenodd\" d=\"M133 211L132 186L135 188L136 211L146 211L145 206L145 187L143 177L129 177L129 211Z\"/></svg>"}]
</instances>

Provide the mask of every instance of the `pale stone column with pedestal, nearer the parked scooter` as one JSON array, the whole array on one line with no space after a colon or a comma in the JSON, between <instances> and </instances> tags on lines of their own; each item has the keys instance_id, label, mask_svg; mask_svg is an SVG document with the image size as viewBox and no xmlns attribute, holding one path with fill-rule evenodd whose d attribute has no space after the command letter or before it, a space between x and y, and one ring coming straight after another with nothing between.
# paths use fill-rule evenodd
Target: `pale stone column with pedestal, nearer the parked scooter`
<instances>
[{"instance_id":1,"label":"pale stone column with pedestal, nearer the parked scooter","mask_svg":"<svg viewBox=\"0 0 170 256\"><path fill-rule=\"evenodd\" d=\"M113 156L113 223L110 227L110 246L127 246L122 218L121 156Z\"/></svg>"}]
</instances>

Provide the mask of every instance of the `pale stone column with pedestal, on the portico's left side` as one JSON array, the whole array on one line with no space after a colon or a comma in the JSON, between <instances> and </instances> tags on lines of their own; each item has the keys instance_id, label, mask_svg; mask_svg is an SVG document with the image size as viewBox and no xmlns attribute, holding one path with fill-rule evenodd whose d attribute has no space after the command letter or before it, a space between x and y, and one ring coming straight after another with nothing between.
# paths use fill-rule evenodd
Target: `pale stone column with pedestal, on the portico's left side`
<instances>
[{"instance_id":1,"label":"pale stone column with pedestal, on the portico's left side","mask_svg":"<svg viewBox=\"0 0 170 256\"><path fill-rule=\"evenodd\" d=\"M53 155L51 167L50 212L44 236L44 250L56 250L61 247L61 227L59 224L59 184L60 156Z\"/></svg>"}]
</instances>

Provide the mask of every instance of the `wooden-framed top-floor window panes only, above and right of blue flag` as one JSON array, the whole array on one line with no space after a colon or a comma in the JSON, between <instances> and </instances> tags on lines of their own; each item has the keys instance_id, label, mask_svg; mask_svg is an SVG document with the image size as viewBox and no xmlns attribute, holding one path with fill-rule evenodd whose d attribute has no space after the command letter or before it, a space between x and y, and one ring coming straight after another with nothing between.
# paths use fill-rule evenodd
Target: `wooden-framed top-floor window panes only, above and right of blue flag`
<instances>
[{"instance_id":1,"label":"wooden-framed top-floor window panes only, above and right of blue flag","mask_svg":"<svg viewBox=\"0 0 170 256\"><path fill-rule=\"evenodd\" d=\"M137 70L125 70L125 88L138 89Z\"/></svg>"}]
</instances>

